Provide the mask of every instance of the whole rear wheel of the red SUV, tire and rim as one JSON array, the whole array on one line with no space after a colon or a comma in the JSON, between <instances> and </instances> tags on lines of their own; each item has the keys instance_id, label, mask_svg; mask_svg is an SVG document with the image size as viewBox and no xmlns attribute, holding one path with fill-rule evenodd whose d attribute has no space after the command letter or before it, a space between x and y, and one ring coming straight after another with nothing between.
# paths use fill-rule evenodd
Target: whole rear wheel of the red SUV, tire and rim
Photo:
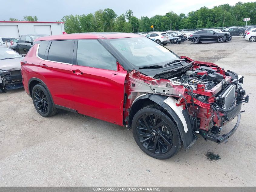
<instances>
[{"instance_id":1,"label":"whole rear wheel of the red SUV, tire and rim","mask_svg":"<svg viewBox=\"0 0 256 192\"><path fill-rule=\"evenodd\" d=\"M37 112L43 117L50 117L58 113L48 90L42 83L36 84L32 89L32 99Z\"/></svg>"}]
</instances>

